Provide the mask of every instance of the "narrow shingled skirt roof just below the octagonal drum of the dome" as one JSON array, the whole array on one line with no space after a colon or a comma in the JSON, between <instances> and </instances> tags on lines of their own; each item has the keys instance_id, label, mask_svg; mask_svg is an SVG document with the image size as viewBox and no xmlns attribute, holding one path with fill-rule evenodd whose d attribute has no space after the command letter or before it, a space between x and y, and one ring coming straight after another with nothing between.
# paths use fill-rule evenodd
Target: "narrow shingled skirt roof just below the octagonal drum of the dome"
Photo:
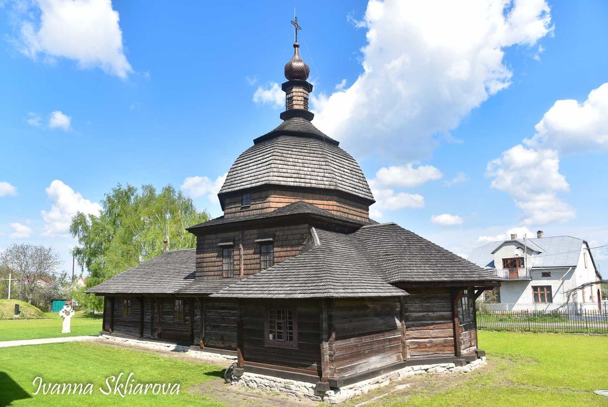
<instances>
[{"instance_id":1,"label":"narrow shingled skirt roof just below the octagonal drum of the dome","mask_svg":"<svg viewBox=\"0 0 608 407\"><path fill-rule=\"evenodd\" d=\"M333 219L336 221L344 221L344 222L348 222L348 223L354 224L354 225L365 225L368 223L368 222L364 222L364 221L357 221L356 219L352 219L350 217L339 216L339 215L333 214L331 212L328 212L324 209L321 209L321 208L317 207L316 205L313 205L312 203L308 203L308 202L304 202L303 200L299 200L296 202L289 203L288 205L285 205L284 207L277 208L272 212L257 213L257 214L252 214L252 215L244 215L244 216L229 217L229 218L226 218L224 216L219 216L219 217L216 217L215 219L211 219L210 221L202 222L201 224L191 226L188 228L188 230L194 229L194 228L199 228L199 227L228 225L228 224L233 224L233 223L238 223L238 222L258 221L260 219L269 219L269 218L274 218L274 217L291 216L291 215L297 215L297 214L311 214L311 215L316 215L316 216L322 216L322 217L326 217L328 219ZM373 222L375 222L375 221L370 220L370 223L373 223Z\"/></svg>"}]
</instances>

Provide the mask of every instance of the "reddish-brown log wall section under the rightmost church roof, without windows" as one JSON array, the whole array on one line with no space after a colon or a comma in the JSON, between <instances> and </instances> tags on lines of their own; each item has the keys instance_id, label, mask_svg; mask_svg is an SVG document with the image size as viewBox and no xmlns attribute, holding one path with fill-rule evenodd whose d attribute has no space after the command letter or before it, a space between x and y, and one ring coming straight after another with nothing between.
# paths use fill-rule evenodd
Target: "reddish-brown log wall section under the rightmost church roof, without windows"
<instances>
[{"instance_id":1,"label":"reddish-brown log wall section under the rightmost church roof, without windows","mask_svg":"<svg viewBox=\"0 0 608 407\"><path fill-rule=\"evenodd\" d=\"M408 358L454 356L451 292L447 288L405 287Z\"/></svg>"}]
</instances>

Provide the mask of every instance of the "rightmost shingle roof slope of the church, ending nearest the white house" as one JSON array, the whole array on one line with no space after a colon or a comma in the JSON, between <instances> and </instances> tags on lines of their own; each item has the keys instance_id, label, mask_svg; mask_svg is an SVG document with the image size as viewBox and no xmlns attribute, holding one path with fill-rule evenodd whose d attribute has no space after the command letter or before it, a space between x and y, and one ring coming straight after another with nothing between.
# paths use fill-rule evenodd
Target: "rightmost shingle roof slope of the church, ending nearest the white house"
<instances>
[{"instance_id":1,"label":"rightmost shingle roof slope of the church, ending nearest the white house","mask_svg":"<svg viewBox=\"0 0 608 407\"><path fill-rule=\"evenodd\" d=\"M494 273L394 223L367 225L354 235L363 242L387 282L500 280Z\"/></svg>"}]
</instances>

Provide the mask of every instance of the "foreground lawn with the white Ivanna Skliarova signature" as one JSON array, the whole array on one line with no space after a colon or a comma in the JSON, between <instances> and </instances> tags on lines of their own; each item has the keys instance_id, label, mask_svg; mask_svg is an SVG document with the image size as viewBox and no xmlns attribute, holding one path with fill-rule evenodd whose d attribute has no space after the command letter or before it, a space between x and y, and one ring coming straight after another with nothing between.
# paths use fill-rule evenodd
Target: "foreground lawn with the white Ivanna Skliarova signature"
<instances>
[{"instance_id":1,"label":"foreground lawn with the white Ivanna Skliarova signature","mask_svg":"<svg viewBox=\"0 0 608 407\"><path fill-rule=\"evenodd\" d=\"M179 383L177 395L104 395L107 377L134 373L136 383ZM222 368L95 343L58 343L0 348L0 406L12 405L210 405L221 403L187 391L207 380L221 380ZM37 395L33 380L92 383L92 395ZM124 380L123 380L124 381Z\"/></svg>"}]
</instances>

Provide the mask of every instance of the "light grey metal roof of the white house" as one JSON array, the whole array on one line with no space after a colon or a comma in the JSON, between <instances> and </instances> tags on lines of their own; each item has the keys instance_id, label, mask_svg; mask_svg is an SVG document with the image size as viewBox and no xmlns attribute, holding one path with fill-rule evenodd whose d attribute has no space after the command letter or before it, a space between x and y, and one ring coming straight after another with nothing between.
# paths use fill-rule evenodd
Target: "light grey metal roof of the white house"
<instances>
[{"instance_id":1,"label":"light grey metal roof of the white house","mask_svg":"<svg viewBox=\"0 0 608 407\"><path fill-rule=\"evenodd\" d=\"M492 255L492 252L499 245L508 242L511 241L489 242L477 247L471 251L469 259L481 267L494 268L494 255ZM517 242L520 242L519 239L517 239ZM526 239L526 242L528 242L528 247L538 247L541 249L541 255L533 257L531 268L575 267L581 256L582 245L585 243L584 240L573 238L572 236ZM523 243L520 242L520 244ZM530 266L529 263L528 266Z\"/></svg>"}]
</instances>

